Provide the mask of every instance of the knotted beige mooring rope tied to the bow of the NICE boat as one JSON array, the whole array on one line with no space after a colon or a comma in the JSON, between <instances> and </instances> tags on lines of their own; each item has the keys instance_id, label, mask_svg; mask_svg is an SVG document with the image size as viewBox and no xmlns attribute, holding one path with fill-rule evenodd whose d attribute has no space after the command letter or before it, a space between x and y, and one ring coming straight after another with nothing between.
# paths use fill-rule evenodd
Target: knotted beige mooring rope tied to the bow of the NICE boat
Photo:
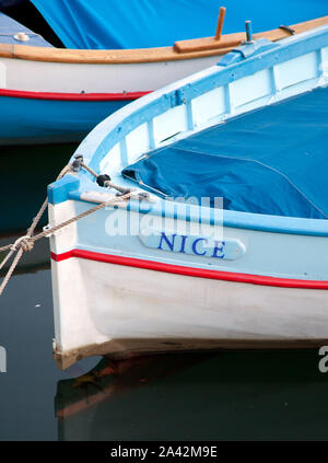
<instances>
[{"instance_id":1,"label":"knotted beige mooring rope tied to the bow of the NICE boat","mask_svg":"<svg viewBox=\"0 0 328 463\"><path fill-rule=\"evenodd\" d=\"M83 167L86 169L86 165L83 164ZM59 178L61 178L63 175L66 175L69 171L72 170L72 164L68 164L66 165L62 171L60 172L60 174L58 175L58 177L56 178L56 181L58 181ZM91 171L87 166L86 169L87 171ZM92 171L92 174L97 176L97 174L95 172ZM115 206L119 202L121 202L122 200L127 200L131 197L132 192L131 190L127 190L126 194L122 194L120 196L114 197L108 199L107 201L103 201L99 202L97 206L94 206L91 209L87 209L84 212L79 213L75 217L72 217L71 219L68 219L61 223L59 223L58 225L55 225L52 228L49 229L45 229L44 231L42 231L40 233L37 233L34 235L34 231L43 216L43 213L45 212L47 206L48 206L48 199L46 199L44 201L44 204L42 205L39 211L37 212L36 217L33 219L33 222L31 224L31 227L28 228L26 234L24 236L19 238L14 243L8 244L5 246L0 247L0 252L4 252L4 251L9 251L9 253L7 254L7 256L4 257L4 259L1 262L0 264L0 270L2 269L2 267L4 266L4 264L12 257L12 255L14 253L16 253L10 268L8 269L1 286L0 286L0 296L3 293L4 288L7 287L16 265L19 264L22 255L24 252L30 252L33 250L34 243L38 240L40 240L42 238L48 236L52 233L55 233L56 231L62 229L63 227L70 225L73 222L77 222L80 219L83 219L86 216L90 216L93 212L96 212L97 210L106 207L106 206Z\"/></svg>"}]
</instances>

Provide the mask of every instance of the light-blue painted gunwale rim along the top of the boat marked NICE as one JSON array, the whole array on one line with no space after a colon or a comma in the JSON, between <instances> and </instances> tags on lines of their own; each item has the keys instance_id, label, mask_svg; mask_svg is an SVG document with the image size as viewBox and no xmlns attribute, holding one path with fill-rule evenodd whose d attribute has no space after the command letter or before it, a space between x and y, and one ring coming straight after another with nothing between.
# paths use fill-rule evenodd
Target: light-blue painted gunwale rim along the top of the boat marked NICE
<instances>
[{"instance_id":1,"label":"light-blue painted gunwale rim along the top of the boat marked NICE","mask_svg":"<svg viewBox=\"0 0 328 463\"><path fill-rule=\"evenodd\" d=\"M244 61L225 67L214 66L187 79L167 85L162 90L143 96L139 101L131 103L106 118L83 140L77 153L82 154L84 161L89 163L93 170L99 172L99 163L108 151L127 134L143 124L150 117L157 116L183 103L188 103L195 96L209 92L216 86L222 86L237 79L251 76L254 72L297 58L307 53L319 50L324 46L328 46L327 26L318 27L311 33L289 37L281 40L277 46L274 44L272 49L249 57ZM319 76L317 78L319 78ZM91 187L93 190L102 190L102 188L97 187L92 181L91 175L84 171L79 173L79 184L77 182L73 182L73 184L71 180L69 180L69 176L67 176L63 183L50 185L50 204L59 204L67 199L81 201L81 193L90 190ZM151 206L151 212L162 216L164 204L164 200L159 200L159 202ZM137 210L142 212L142 209L140 210L140 205L136 202L131 202L129 209L131 211ZM214 224L213 210L210 208L202 209L209 209L204 211L208 219L204 219L203 222ZM179 218L178 213L175 211L166 213L166 217ZM190 206L187 220L199 220L198 207ZM237 229L328 236L328 222L326 220L265 216L225 210L223 221L224 227Z\"/></svg>"}]
</instances>

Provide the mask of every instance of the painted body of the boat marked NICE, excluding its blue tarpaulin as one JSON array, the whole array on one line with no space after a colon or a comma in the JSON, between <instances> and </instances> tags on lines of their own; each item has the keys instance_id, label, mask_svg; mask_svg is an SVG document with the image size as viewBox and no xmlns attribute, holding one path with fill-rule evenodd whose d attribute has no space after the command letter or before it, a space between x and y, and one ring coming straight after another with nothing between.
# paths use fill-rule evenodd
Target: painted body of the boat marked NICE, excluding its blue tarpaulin
<instances>
[{"instance_id":1,"label":"painted body of the boat marked NICE, excluding its blue tarpaulin","mask_svg":"<svg viewBox=\"0 0 328 463\"><path fill-rule=\"evenodd\" d=\"M50 238L54 348L62 368L96 354L327 344L326 219L184 204L159 190L145 198L149 183L121 175L141 155L200 129L326 86L327 40L321 27L279 45L261 40L255 51L245 45L249 56L232 53L86 137L74 172L48 187L50 227L69 221ZM93 171L137 185L141 200L138 190L119 199Z\"/></svg>"}]
</instances>

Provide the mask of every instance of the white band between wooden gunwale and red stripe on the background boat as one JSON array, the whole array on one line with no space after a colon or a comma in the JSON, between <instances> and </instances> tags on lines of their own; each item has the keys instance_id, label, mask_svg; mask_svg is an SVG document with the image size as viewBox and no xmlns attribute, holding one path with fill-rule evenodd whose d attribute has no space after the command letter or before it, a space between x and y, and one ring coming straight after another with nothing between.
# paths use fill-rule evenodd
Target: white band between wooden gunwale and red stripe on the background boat
<instances>
[{"instance_id":1,"label":"white band between wooden gunwale and red stripe on the background boat","mask_svg":"<svg viewBox=\"0 0 328 463\"><path fill-rule=\"evenodd\" d=\"M141 63L67 63L0 57L0 89L56 93L149 92L214 65L219 59L220 56L210 56Z\"/></svg>"}]
</instances>

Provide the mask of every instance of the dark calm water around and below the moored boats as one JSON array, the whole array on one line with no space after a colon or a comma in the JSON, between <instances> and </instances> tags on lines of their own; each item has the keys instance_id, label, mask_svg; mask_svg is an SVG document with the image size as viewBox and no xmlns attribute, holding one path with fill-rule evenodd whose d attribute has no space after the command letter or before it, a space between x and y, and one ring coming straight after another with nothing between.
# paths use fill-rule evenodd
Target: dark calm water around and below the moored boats
<instances>
[{"instance_id":1,"label":"dark calm water around and below the moored boats","mask_svg":"<svg viewBox=\"0 0 328 463\"><path fill-rule=\"evenodd\" d=\"M2 149L1 236L27 225L73 150ZM0 299L0 440L328 439L317 351L93 358L58 370L47 246L25 258Z\"/></svg>"}]
</instances>

